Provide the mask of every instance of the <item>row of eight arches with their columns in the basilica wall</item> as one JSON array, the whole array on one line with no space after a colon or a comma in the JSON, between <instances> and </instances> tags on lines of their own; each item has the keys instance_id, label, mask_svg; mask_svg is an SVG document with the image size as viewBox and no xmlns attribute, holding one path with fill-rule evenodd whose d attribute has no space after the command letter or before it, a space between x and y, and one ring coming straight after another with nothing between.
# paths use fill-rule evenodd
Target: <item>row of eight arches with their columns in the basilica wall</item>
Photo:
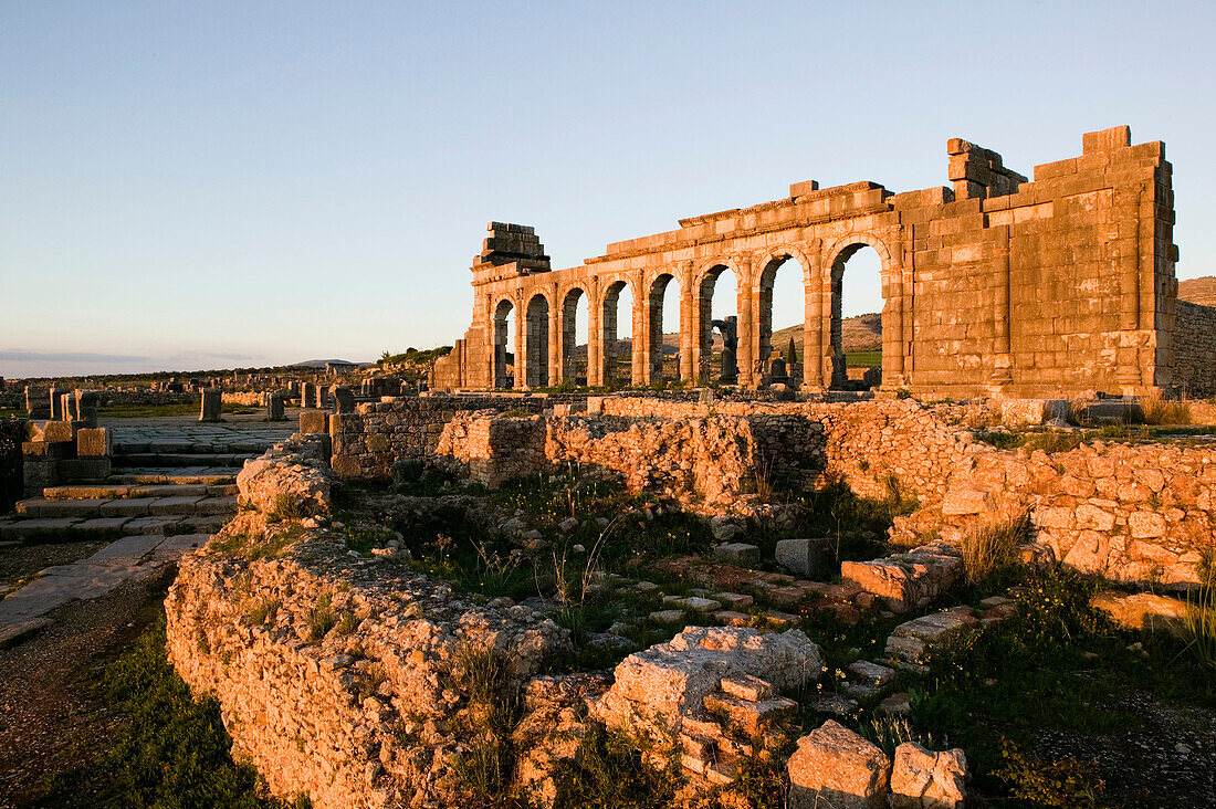
<instances>
[{"instance_id":1,"label":"row of eight arches with their columns in the basilica wall","mask_svg":"<svg viewBox=\"0 0 1216 809\"><path fill-rule=\"evenodd\" d=\"M880 336L874 335L874 350L862 358L868 365L850 373L843 324L854 315L882 311L882 275L883 259L871 245L856 242L837 252L831 268L831 335L824 335L833 387L848 387L850 376L861 377L866 367L880 363ZM598 303L580 286L572 286L557 302L556 313L546 292L518 303L500 299L492 310L494 387L537 388L567 380L576 384L677 380L731 384L739 381L741 371L749 378L801 383L807 286L817 281L793 251L771 258L754 290L744 288L728 263L699 273L691 282L692 296L682 294L680 279L668 271L643 281L640 300L637 280L608 280ZM596 305L598 318L592 319L590 310ZM741 319L744 307L754 309L753 318ZM634 328L640 316L642 335ZM753 335L739 333L741 320L753 324ZM551 333L554 328L557 333ZM592 335L592 328L598 333ZM638 337L641 347L634 345ZM754 345L747 358L739 354L741 342ZM741 361L750 361L751 367L741 369ZM867 378L873 381L873 375Z\"/></svg>"}]
</instances>

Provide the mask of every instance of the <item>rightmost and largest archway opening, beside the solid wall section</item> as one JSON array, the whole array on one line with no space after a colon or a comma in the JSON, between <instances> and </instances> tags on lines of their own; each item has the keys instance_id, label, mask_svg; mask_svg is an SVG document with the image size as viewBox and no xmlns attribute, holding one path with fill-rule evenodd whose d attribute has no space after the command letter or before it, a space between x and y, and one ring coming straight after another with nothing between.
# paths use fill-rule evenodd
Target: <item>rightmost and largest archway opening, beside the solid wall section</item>
<instances>
[{"instance_id":1,"label":"rightmost and largest archway opening, beside the solid wall section","mask_svg":"<svg viewBox=\"0 0 1216 809\"><path fill-rule=\"evenodd\" d=\"M877 388L883 381L883 262L850 245L832 264L832 387Z\"/></svg>"}]
</instances>

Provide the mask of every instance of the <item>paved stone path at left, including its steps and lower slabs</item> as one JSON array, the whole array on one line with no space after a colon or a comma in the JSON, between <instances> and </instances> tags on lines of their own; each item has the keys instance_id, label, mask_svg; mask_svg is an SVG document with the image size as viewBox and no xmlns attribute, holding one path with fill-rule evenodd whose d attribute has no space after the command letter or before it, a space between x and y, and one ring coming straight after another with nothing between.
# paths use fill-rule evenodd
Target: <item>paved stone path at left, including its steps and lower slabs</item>
<instances>
[{"instance_id":1,"label":"paved stone path at left, including its steps and lower slabs","mask_svg":"<svg viewBox=\"0 0 1216 809\"><path fill-rule=\"evenodd\" d=\"M236 513L236 474L295 431L260 416L201 425L192 417L102 420L113 429L114 474L100 484L47 487L0 517L4 545L116 539L92 556L41 571L0 592L0 645L49 625L45 616L74 599L97 599L124 582L153 575L207 541Z\"/></svg>"}]
</instances>

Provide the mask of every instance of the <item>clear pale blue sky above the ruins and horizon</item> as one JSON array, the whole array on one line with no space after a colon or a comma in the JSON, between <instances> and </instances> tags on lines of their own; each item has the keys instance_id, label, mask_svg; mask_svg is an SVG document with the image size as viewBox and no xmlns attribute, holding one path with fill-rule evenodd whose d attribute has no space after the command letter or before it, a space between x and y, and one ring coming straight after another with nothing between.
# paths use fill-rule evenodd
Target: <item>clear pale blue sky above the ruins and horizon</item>
<instances>
[{"instance_id":1,"label":"clear pale blue sky above the ruins and horizon","mask_svg":"<svg viewBox=\"0 0 1216 809\"><path fill-rule=\"evenodd\" d=\"M1166 141L1212 275L1214 40L1212 2L0 0L0 376L450 343L490 220L572 266L790 182L948 185L950 137L1028 175Z\"/></svg>"}]
</instances>

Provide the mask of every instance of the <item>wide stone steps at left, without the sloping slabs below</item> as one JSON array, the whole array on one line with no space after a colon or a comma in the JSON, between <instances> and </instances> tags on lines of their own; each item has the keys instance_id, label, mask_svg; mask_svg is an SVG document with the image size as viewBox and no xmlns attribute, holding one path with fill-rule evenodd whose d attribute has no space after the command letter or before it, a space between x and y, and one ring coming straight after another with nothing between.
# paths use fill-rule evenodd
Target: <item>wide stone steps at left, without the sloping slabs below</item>
<instances>
[{"instance_id":1,"label":"wide stone steps at left, without the sloping slabs below","mask_svg":"<svg viewBox=\"0 0 1216 809\"><path fill-rule=\"evenodd\" d=\"M116 443L101 483L56 485L0 518L0 541L46 543L131 535L212 534L237 510L236 476L260 444L184 440Z\"/></svg>"}]
</instances>

